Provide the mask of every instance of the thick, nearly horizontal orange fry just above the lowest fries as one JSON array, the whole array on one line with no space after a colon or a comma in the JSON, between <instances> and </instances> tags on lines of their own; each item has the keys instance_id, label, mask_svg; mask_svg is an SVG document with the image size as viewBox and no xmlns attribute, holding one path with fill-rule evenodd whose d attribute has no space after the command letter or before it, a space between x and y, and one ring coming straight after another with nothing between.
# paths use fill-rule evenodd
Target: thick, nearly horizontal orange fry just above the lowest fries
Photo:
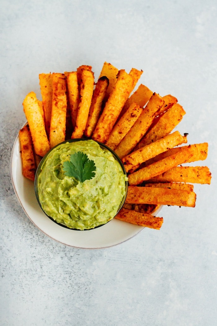
<instances>
[{"instance_id":1,"label":"thick, nearly horizontal orange fry just above the lowest fries","mask_svg":"<svg viewBox=\"0 0 217 326\"><path fill-rule=\"evenodd\" d=\"M189 190L128 187L126 203L195 207L196 194Z\"/></svg>"}]
</instances>

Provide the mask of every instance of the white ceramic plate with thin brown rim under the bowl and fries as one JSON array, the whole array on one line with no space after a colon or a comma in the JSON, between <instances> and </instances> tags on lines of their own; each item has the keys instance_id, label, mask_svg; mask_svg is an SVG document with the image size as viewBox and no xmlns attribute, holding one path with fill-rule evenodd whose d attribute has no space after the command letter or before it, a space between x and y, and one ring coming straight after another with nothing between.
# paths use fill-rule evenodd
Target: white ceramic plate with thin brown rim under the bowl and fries
<instances>
[{"instance_id":1,"label":"white ceramic plate with thin brown rim under the bowl and fries","mask_svg":"<svg viewBox=\"0 0 217 326\"><path fill-rule=\"evenodd\" d=\"M22 175L18 136L11 155L11 179L18 200L29 219L38 229L62 244L86 249L106 248L120 244L144 230L143 227L116 219L100 228L87 231L69 230L54 223L40 208L34 192L34 183Z\"/></svg>"}]
</instances>

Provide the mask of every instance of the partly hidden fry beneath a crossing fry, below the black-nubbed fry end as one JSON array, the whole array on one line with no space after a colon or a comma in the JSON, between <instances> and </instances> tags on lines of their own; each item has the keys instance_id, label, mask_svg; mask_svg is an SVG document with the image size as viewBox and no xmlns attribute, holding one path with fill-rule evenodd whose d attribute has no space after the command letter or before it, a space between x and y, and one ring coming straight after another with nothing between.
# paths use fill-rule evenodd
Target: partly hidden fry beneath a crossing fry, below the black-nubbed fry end
<instances>
[{"instance_id":1,"label":"partly hidden fry beneath a crossing fry, below the black-nubbed fry end","mask_svg":"<svg viewBox=\"0 0 217 326\"><path fill-rule=\"evenodd\" d=\"M161 154L151 158L150 160L147 160L146 162L144 162L143 166L148 166L154 162L160 161L163 158L166 158L172 154L178 153L180 148L184 149L184 148L187 148L188 146L189 145L171 148L168 151L161 153ZM200 144L192 144L191 152L193 155L189 159L186 159L183 163L191 163L191 162L195 162L195 161L205 160L207 158L207 154L208 154L208 143L204 142L204 143L200 143Z\"/></svg>"}]
</instances>

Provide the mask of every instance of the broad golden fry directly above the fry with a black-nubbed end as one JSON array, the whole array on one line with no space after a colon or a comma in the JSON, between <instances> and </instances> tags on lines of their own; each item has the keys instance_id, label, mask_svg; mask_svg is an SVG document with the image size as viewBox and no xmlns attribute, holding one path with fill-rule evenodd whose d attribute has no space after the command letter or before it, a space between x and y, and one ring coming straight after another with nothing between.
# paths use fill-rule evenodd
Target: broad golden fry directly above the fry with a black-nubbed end
<instances>
[{"instance_id":1,"label":"broad golden fry directly above the fry with a black-nubbed end","mask_svg":"<svg viewBox=\"0 0 217 326\"><path fill-rule=\"evenodd\" d=\"M168 135L179 124L184 114L185 111L182 106L174 104L168 111L155 118L153 126L150 127L149 131L136 146L136 149Z\"/></svg>"}]
</instances>

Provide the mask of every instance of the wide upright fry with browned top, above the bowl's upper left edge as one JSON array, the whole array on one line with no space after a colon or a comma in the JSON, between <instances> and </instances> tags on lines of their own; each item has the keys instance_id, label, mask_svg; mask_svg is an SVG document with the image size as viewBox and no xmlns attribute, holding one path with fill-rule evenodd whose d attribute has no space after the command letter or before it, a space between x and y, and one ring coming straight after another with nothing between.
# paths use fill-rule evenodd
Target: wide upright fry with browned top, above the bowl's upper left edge
<instances>
[{"instance_id":1,"label":"wide upright fry with browned top, above the bowl's upper left edge","mask_svg":"<svg viewBox=\"0 0 217 326\"><path fill-rule=\"evenodd\" d=\"M65 140L66 109L66 77L61 73L53 73L50 148Z\"/></svg>"}]
</instances>

